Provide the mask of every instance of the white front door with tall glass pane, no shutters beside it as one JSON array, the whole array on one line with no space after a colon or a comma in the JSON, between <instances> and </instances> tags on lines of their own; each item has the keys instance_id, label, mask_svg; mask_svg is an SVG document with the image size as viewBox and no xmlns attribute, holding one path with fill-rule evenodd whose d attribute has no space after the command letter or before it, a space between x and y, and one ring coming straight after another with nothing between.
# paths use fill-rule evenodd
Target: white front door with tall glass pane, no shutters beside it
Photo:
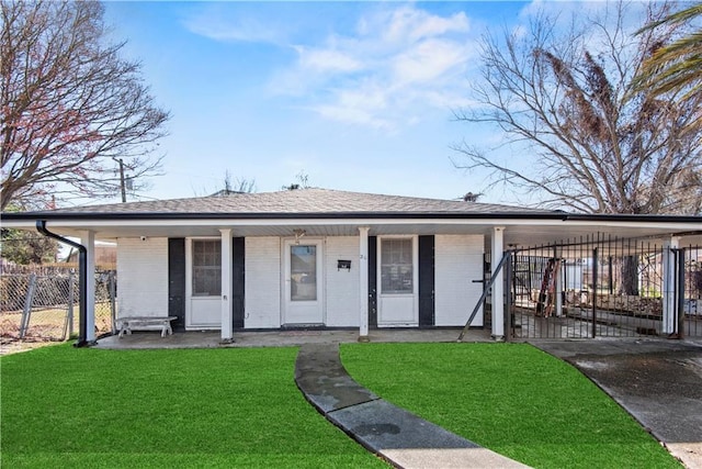
<instances>
[{"instance_id":1,"label":"white front door with tall glass pane, no shutters beside it","mask_svg":"<svg viewBox=\"0 0 702 469\"><path fill-rule=\"evenodd\" d=\"M324 319L322 242L286 239L283 253L283 324L321 325Z\"/></svg>"}]
</instances>

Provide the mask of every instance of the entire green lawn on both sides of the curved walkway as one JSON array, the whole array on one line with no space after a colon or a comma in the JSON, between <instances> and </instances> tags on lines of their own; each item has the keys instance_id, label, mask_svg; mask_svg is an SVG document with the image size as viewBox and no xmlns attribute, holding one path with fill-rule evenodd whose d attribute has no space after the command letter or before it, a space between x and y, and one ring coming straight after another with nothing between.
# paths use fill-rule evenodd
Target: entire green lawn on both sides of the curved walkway
<instances>
[{"instance_id":1,"label":"entire green lawn on both sides of the curved walkway","mask_svg":"<svg viewBox=\"0 0 702 469\"><path fill-rule=\"evenodd\" d=\"M570 366L524 344L350 344L390 402L534 467L680 467ZM1 467L386 467L295 387L296 348L0 358Z\"/></svg>"}]
</instances>

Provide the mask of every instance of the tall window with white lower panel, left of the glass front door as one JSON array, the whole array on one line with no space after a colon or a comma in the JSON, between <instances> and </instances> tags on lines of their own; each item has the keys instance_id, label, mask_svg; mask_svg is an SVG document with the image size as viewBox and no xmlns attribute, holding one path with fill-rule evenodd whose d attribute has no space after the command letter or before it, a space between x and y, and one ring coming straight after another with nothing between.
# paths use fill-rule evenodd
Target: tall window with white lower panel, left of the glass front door
<instances>
[{"instance_id":1,"label":"tall window with white lower panel, left of the glass front door","mask_svg":"<svg viewBox=\"0 0 702 469\"><path fill-rule=\"evenodd\" d=\"M222 328L222 239L185 245L185 328Z\"/></svg>"}]
</instances>

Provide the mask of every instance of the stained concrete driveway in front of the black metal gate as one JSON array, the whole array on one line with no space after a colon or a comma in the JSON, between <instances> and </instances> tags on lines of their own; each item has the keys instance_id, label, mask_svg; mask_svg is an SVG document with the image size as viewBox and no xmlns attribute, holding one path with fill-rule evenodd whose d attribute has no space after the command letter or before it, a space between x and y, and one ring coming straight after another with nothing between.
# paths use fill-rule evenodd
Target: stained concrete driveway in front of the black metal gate
<instances>
[{"instance_id":1,"label":"stained concrete driveway in front of the black metal gate","mask_svg":"<svg viewBox=\"0 0 702 469\"><path fill-rule=\"evenodd\" d=\"M702 342L534 340L595 381L688 468L702 469Z\"/></svg>"}]
</instances>

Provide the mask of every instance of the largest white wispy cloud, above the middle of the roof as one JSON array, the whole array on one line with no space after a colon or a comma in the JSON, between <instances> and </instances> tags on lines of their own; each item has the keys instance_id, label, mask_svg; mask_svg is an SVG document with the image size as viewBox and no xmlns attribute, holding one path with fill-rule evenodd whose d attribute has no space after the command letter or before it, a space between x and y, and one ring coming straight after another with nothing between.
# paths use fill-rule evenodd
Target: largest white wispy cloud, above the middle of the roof
<instances>
[{"instance_id":1,"label":"largest white wispy cloud, above the middle of the roof","mask_svg":"<svg viewBox=\"0 0 702 469\"><path fill-rule=\"evenodd\" d=\"M355 34L295 46L297 60L270 88L306 101L324 119L382 130L418 124L431 110L465 100L476 55L471 34L464 12L440 16L384 4L366 11Z\"/></svg>"}]
</instances>

